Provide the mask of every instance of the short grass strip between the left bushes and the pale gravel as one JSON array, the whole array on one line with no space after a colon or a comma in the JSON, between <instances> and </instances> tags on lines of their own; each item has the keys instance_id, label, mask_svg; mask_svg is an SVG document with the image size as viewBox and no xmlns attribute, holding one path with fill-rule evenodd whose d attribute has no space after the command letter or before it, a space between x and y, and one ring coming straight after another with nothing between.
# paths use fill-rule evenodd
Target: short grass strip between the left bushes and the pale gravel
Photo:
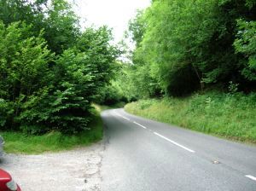
<instances>
[{"instance_id":1,"label":"short grass strip between the left bushes and the pale gravel","mask_svg":"<svg viewBox=\"0 0 256 191\"><path fill-rule=\"evenodd\" d=\"M3 136L6 153L44 153L67 150L79 146L87 146L102 139L102 119L99 114L90 123L89 130L76 136L50 132L44 136L26 136L18 132L0 132Z\"/></svg>"}]
</instances>

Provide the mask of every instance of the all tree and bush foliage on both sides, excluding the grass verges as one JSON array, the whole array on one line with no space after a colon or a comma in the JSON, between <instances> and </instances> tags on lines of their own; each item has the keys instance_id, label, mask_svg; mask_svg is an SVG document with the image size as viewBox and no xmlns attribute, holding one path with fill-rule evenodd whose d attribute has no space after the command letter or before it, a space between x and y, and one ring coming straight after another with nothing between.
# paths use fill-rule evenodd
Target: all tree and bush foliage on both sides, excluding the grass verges
<instances>
[{"instance_id":1,"label":"all tree and bush foliage on both sides, excluding the grass verges","mask_svg":"<svg viewBox=\"0 0 256 191\"><path fill-rule=\"evenodd\" d=\"M154 0L130 21L130 64L66 0L0 0L0 127L88 128L91 103L256 90L255 0ZM120 61L119 61L120 62Z\"/></svg>"}]
</instances>

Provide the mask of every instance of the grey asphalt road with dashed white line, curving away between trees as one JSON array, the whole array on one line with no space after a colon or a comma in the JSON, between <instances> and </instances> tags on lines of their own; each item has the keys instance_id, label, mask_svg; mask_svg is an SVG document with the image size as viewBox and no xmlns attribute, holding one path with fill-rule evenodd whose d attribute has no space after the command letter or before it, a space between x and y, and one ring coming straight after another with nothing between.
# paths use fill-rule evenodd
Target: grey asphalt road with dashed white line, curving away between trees
<instances>
[{"instance_id":1,"label":"grey asphalt road with dashed white line, curving away between trees","mask_svg":"<svg viewBox=\"0 0 256 191\"><path fill-rule=\"evenodd\" d=\"M102 191L256 191L256 147L143 119L102 113Z\"/></svg>"}]
</instances>

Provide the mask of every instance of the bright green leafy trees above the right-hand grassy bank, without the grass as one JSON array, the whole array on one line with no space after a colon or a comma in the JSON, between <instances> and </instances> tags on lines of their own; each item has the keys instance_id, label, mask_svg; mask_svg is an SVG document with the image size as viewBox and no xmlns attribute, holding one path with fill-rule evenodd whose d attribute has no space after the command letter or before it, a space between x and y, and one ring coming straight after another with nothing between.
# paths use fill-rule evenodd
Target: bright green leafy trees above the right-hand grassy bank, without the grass
<instances>
[{"instance_id":1,"label":"bright green leafy trees above the right-hand grassy bank, without the grass","mask_svg":"<svg viewBox=\"0 0 256 191\"><path fill-rule=\"evenodd\" d=\"M154 0L130 22L129 99L256 87L255 0ZM125 88L127 89L127 87Z\"/></svg>"}]
</instances>

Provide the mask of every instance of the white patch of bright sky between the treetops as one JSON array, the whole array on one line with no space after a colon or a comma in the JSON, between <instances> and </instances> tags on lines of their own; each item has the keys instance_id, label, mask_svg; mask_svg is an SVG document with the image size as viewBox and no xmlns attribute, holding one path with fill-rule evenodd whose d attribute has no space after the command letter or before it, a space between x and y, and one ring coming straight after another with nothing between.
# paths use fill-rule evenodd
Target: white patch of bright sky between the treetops
<instances>
[{"instance_id":1,"label":"white patch of bright sky between the treetops","mask_svg":"<svg viewBox=\"0 0 256 191\"><path fill-rule=\"evenodd\" d=\"M113 28L115 41L123 37L128 21L137 9L150 5L150 0L70 0L77 4L75 10L85 21L85 26L108 25Z\"/></svg>"}]
</instances>

